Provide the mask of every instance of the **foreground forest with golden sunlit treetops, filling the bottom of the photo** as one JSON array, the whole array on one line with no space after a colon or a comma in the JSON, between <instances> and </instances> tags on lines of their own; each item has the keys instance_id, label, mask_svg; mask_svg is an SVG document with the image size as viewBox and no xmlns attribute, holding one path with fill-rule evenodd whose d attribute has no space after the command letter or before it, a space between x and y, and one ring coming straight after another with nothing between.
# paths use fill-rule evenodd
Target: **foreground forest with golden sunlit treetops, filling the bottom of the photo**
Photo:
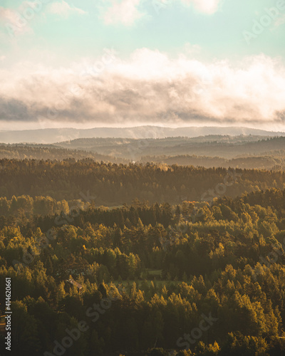
<instances>
[{"instance_id":1,"label":"foreground forest with golden sunlit treetops, filling the bottom of the photo","mask_svg":"<svg viewBox=\"0 0 285 356\"><path fill-rule=\"evenodd\" d=\"M284 191L41 216L45 199L0 216L13 355L285 352Z\"/></svg>"}]
</instances>

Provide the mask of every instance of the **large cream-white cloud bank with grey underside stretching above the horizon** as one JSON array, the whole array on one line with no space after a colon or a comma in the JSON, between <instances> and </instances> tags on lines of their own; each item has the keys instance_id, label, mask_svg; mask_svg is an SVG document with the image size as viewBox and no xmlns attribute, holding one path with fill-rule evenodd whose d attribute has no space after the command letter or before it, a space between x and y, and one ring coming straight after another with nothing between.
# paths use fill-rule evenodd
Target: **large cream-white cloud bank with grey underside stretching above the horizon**
<instances>
[{"instance_id":1,"label":"large cream-white cloud bank with grey underside stretching above the horizon","mask_svg":"<svg viewBox=\"0 0 285 356\"><path fill-rule=\"evenodd\" d=\"M285 126L285 68L266 56L232 66L142 48L128 61L104 54L70 68L21 63L0 69L0 81L0 120Z\"/></svg>"}]
</instances>

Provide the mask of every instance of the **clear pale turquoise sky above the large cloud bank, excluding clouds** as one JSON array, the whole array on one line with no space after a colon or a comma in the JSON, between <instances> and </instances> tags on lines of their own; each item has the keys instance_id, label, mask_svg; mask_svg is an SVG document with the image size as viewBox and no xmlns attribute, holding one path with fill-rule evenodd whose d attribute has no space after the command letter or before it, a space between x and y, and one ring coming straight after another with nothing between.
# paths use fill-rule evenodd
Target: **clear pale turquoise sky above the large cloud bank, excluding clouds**
<instances>
[{"instance_id":1,"label":"clear pale turquoise sky above the large cloud bank, excluding clouds","mask_svg":"<svg viewBox=\"0 0 285 356\"><path fill-rule=\"evenodd\" d=\"M26 56L29 58L30 52L33 53L35 49L44 48L54 53L58 60L72 61L84 56L98 56L106 47L115 48L122 57L137 48L146 47L175 56L185 43L190 43L200 46L202 56L207 59L234 59L259 53L268 56L285 54L284 24L274 27L272 20L271 26L265 28L250 44L243 36L244 30L252 30L254 20L258 21L266 14L264 8L276 6L277 1L224 0L217 12L205 14L192 5L185 6L182 1L172 0L157 14L152 1L145 0L138 6L144 16L127 26L104 22L102 13L108 9L111 1L66 2L86 14L76 11L66 16L51 14L48 11L49 4L43 5L42 10L26 25L32 31L16 36L14 41L8 36L4 26L6 22L1 21L1 53L6 56L17 53L14 61L19 61ZM16 11L24 2L14 0L13 6L10 0L2 0L1 3L4 8ZM99 7L103 9L100 11ZM280 11L279 18L282 16L285 16L285 11Z\"/></svg>"}]
</instances>

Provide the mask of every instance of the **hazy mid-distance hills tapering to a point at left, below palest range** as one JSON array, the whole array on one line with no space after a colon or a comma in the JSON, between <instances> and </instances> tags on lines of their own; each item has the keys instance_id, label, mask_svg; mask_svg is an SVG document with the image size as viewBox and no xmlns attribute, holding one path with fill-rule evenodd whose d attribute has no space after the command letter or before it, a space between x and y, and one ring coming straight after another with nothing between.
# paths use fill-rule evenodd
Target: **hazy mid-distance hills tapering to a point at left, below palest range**
<instances>
[{"instance_id":1,"label":"hazy mid-distance hills tapering to a point at left, below palest range","mask_svg":"<svg viewBox=\"0 0 285 356\"><path fill-rule=\"evenodd\" d=\"M197 155L232 159L248 155L271 155L285 149L285 137L260 136L209 136L167 137L163 139L89 138L56 145L72 150L88 150L100 155L110 155L138 161L143 156Z\"/></svg>"}]
</instances>

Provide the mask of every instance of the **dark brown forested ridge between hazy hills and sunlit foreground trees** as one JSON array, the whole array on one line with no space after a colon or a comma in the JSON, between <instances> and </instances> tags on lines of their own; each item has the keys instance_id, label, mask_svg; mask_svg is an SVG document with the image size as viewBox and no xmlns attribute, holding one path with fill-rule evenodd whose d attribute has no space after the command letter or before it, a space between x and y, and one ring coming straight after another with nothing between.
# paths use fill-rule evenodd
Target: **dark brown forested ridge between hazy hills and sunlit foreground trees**
<instances>
[{"instance_id":1,"label":"dark brown forested ridge between hazy hills and sunlit foreground trees","mask_svg":"<svg viewBox=\"0 0 285 356\"><path fill-rule=\"evenodd\" d=\"M111 164L93 159L0 160L0 197L49 196L56 200L95 197L95 205L114 206L133 199L177 204L182 200L237 197L246 192L285 188L279 170L225 169L167 164ZM226 183L225 183L226 182ZM220 185L225 184L226 189Z\"/></svg>"}]
</instances>

